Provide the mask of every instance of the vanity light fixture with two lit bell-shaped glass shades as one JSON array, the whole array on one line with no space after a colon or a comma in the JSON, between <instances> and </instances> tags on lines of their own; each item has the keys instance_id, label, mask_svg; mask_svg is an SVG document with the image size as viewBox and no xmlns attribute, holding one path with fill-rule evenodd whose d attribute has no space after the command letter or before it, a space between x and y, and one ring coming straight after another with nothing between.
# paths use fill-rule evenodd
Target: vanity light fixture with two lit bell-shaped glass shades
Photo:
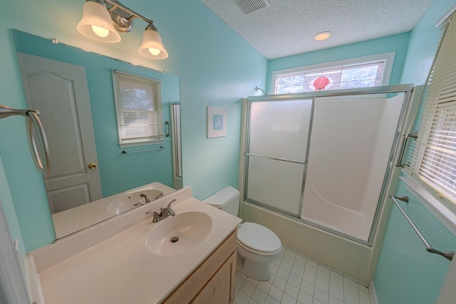
<instances>
[{"instance_id":1,"label":"vanity light fixture with two lit bell-shaped glass shades","mask_svg":"<svg viewBox=\"0 0 456 304\"><path fill-rule=\"evenodd\" d=\"M154 26L154 21L128 9L116 0L87 0L83 6L83 19L78 23L78 31L84 36L106 43L118 43L120 33L128 33L133 28L133 19L148 23L142 36L139 53L153 59L165 59L168 53L162 37Z\"/></svg>"}]
</instances>

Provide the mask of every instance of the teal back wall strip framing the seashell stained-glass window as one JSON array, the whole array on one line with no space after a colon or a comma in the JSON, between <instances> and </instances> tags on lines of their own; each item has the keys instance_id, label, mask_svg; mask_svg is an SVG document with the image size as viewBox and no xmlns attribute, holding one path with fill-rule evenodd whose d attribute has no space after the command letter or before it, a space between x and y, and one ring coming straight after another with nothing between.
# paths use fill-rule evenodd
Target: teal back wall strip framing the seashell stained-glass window
<instances>
[{"instance_id":1,"label":"teal back wall strip framing the seashell stained-glass window","mask_svg":"<svg viewBox=\"0 0 456 304\"><path fill-rule=\"evenodd\" d=\"M274 59L269 61L268 78L266 80L266 90L271 91L271 74L275 70L296 68L305 65L314 65L331 61L341 61L356 57L371 56L380 53L395 52L393 70L391 71L390 85L400 83L400 75L407 54L410 33L400 33L398 35L383 38L351 43L336 48L326 48L321 51L303 53L299 55Z\"/></svg>"}]
</instances>

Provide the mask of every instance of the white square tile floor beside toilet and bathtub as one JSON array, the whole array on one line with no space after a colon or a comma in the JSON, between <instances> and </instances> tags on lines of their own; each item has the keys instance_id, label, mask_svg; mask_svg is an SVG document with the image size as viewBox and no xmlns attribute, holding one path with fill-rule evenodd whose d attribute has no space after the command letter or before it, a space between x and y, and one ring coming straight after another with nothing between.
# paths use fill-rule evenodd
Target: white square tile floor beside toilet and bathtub
<instances>
[{"instance_id":1,"label":"white square tile floor beside toilet and bathtub","mask_svg":"<svg viewBox=\"0 0 456 304\"><path fill-rule=\"evenodd\" d=\"M236 273L237 304L371 304L369 290L336 271L284 248L271 264L271 279Z\"/></svg>"}]
</instances>

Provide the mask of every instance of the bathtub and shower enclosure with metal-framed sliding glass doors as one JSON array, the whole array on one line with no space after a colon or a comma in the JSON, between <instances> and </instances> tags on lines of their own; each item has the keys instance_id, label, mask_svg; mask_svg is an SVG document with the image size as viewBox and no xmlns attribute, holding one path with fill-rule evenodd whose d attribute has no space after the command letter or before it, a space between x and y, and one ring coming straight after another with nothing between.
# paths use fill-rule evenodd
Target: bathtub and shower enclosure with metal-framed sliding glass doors
<instances>
[{"instance_id":1,"label":"bathtub and shower enclosure with metal-framed sliding glass doors","mask_svg":"<svg viewBox=\"0 0 456 304\"><path fill-rule=\"evenodd\" d=\"M389 98L355 89L246 100L239 156L241 168L246 166L245 177L239 176L242 219L268 227L285 246L370 283L395 169L390 159L398 151L410 89L367 90L384 90ZM273 124L269 117L276 118Z\"/></svg>"}]
</instances>

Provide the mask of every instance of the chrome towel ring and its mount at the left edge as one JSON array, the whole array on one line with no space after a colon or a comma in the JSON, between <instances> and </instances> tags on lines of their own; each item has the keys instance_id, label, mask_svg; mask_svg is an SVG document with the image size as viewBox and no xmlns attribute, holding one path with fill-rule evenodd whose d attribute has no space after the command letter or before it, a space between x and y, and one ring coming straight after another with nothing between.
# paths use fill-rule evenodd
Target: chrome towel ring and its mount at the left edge
<instances>
[{"instance_id":1,"label":"chrome towel ring and its mount at the left edge","mask_svg":"<svg viewBox=\"0 0 456 304\"><path fill-rule=\"evenodd\" d=\"M13 109L0 104L0 119L15 115L26 117L28 147L30 148L33 162L41 174L48 173L51 170L49 147L46 133L39 118L40 112L38 110ZM36 137L38 137L38 140Z\"/></svg>"}]
</instances>

